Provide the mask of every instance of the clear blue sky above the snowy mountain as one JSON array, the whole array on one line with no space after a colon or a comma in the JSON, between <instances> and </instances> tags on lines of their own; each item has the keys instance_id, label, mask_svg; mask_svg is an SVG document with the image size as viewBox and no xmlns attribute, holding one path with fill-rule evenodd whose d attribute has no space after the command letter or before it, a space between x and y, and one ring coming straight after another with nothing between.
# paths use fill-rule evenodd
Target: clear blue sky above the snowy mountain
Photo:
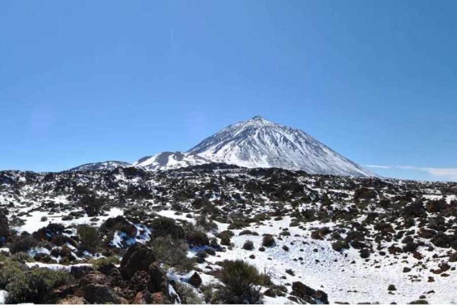
<instances>
[{"instance_id":1,"label":"clear blue sky above the snowy mountain","mask_svg":"<svg viewBox=\"0 0 457 305\"><path fill-rule=\"evenodd\" d=\"M2 1L0 169L133 162L261 115L382 175L457 180L456 10Z\"/></svg>"}]
</instances>

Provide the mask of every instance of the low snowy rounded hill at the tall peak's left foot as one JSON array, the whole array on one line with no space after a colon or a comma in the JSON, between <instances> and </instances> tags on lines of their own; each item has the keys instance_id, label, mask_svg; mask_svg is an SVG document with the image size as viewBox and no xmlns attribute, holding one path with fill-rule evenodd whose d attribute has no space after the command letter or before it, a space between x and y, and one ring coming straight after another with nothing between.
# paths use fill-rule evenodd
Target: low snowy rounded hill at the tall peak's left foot
<instances>
[{"instance_id":1,"label":"low snowy rounded hill at the tall peak's left foot","mask_svg":"<svg viewBox=\"0 0 457 305\"><path fill-rule=\"evenodd\" d=\"M191 153L165 151L154 156L141 158L137 162L134 162L133 165L143 167L146 170L168 170L210 162L208 159Z\"/></svg>"}]
</instances>

